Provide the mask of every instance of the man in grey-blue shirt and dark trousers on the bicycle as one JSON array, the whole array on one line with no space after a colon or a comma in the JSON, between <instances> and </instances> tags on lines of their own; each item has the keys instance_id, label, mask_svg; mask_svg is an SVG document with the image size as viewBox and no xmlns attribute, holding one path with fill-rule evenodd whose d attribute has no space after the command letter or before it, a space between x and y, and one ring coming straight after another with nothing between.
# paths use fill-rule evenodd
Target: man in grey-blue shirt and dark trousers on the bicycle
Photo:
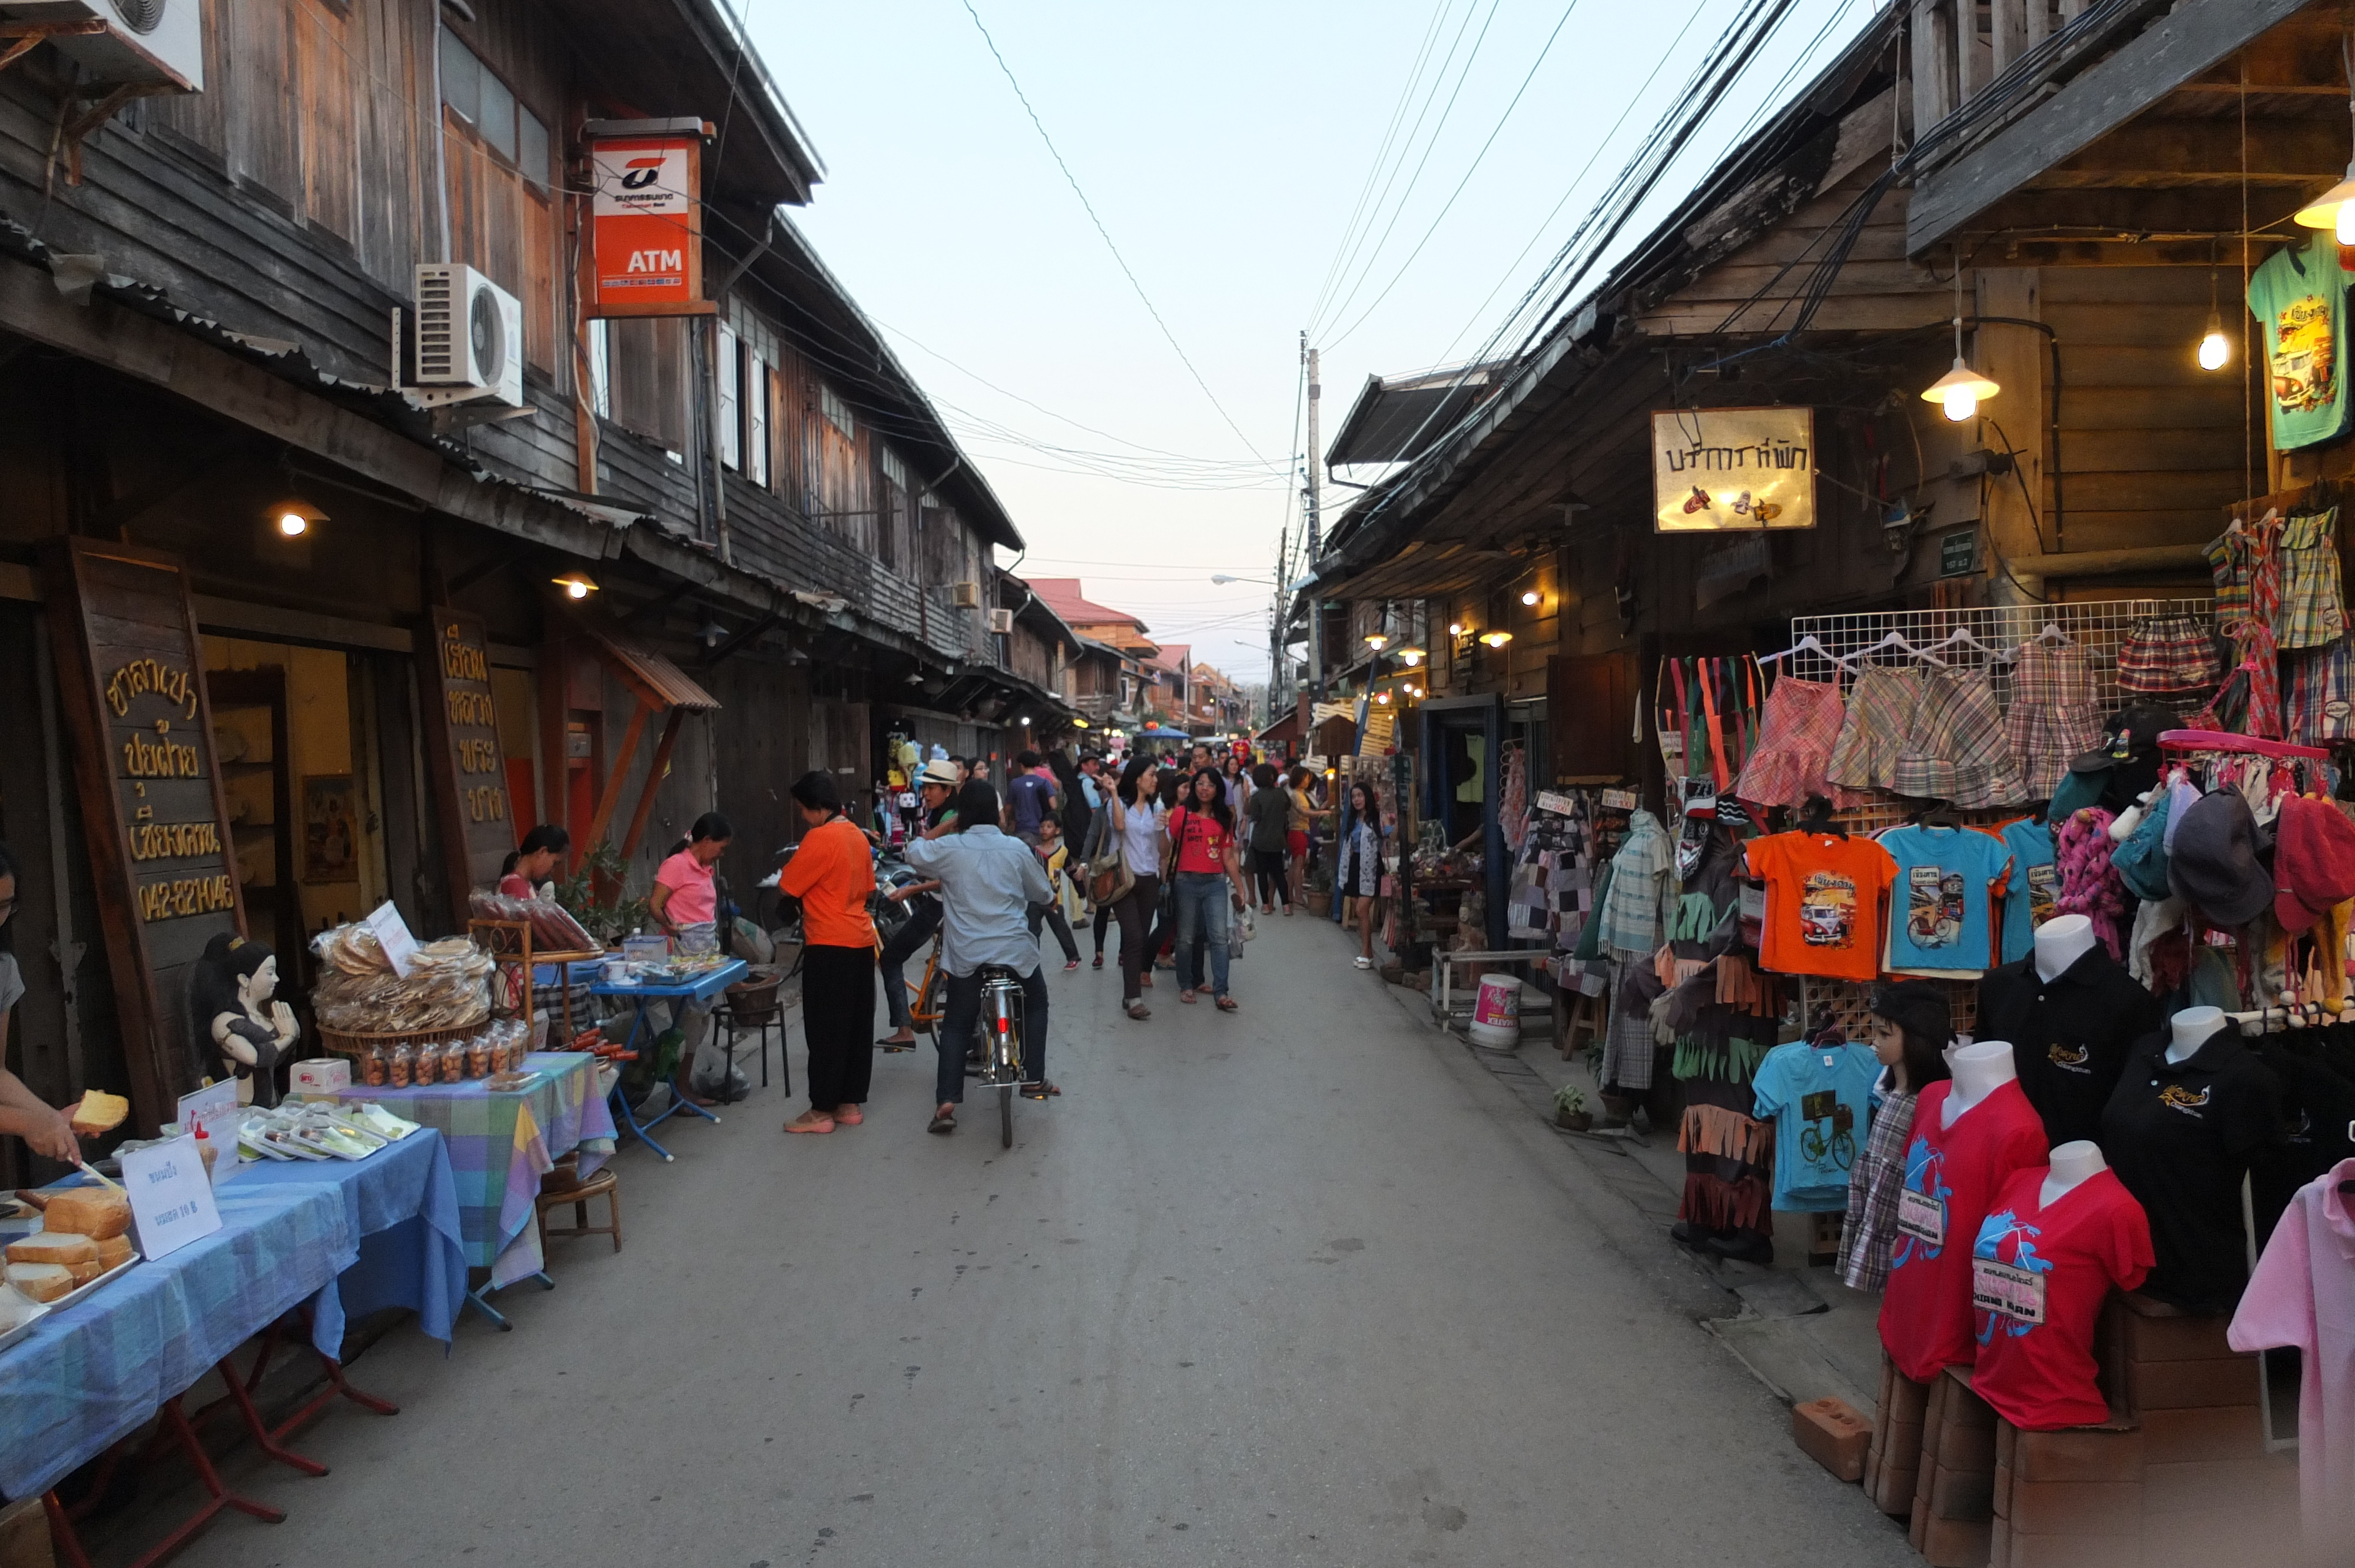
<instances>
[{"instance_id":1,"label":"man in grey-blue shirt and dark trousers on the bicycle","mask_svg":"<svg viewBox=\"0 0 2355 1568\"><path fill-rule=\"evenodd\" d=\"M1046 1076L1046 970L1029 932L1029 906L1055 897L1039 857L999 831L999 791L970 779L956 796L956 822L926 829L907 845L907 864L940 878L940 965L949 975L949 1008L933 1045L940 1050L933 1132L956 1132L966 1099L966 1050L982 1012L984 968L1022 979L1022 1095L1060 1095Z\"/></svg>"}]
</instances>

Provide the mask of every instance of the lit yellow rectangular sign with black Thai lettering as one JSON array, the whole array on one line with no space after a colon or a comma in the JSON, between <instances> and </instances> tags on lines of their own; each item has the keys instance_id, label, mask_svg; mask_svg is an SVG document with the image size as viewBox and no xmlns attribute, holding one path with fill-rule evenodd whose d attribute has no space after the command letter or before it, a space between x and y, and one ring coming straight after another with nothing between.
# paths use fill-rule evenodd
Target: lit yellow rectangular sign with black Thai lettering
<instances>
[{"instance_id":1,"label":"lit yellow rectangular sign with black Thai lettering","mask_svg":"<svg viewBox=\"0 0 2355 1568\"><path fill-rule=\"evenodd\" d=\"M1816 527L1816 410L1656 410L1651 497L1663 534Z\"/></svg>"}]
</instances>

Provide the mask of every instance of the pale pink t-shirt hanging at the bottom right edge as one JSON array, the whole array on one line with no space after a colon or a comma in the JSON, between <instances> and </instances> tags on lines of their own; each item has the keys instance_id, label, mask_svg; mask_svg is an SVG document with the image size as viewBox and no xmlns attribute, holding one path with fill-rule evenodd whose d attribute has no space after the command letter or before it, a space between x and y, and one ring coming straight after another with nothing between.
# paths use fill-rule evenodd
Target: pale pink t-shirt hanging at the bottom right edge
<instances>
[{"instance_id":1,"label":"pale pink t-shirt hanging at the bottom right edge","mask_svg":"<svg viewBox=\"0 0 2355 1568\"><path fill-rule=\"evenodd\" d=\"M2306 1549L2355 1542L2355 1161L2298 1189L2233 1314L2237 1351L2298 1347L2298 1495Z\"/></svg>"}]
</instances>

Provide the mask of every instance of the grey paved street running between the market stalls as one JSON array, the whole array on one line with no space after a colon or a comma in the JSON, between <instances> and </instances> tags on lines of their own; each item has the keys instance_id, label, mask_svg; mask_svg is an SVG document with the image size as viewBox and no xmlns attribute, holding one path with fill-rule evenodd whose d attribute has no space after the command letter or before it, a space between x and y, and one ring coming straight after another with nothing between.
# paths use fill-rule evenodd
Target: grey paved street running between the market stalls
<instances>
[{"instance_id":1,"label":"grey paved street running between the market stalls","mask_svg":"<svg viewBox=\"0 0 2355 1568\"><path fill-rule=\"evenodd\" d=\"M1915 1561L1580 1154L1331 925L1260 932L1234 1017L1057 968L1013 1151L982 1102L926 1137L930 1050L864 1128L770 1090L629 1147L622 1255L558 1245L447 1361L391 1335L353 1375L403 1415L332 1413L320 1481L240 1460L287 1523L184 1561Z\"/></svg>"}]
</instances>

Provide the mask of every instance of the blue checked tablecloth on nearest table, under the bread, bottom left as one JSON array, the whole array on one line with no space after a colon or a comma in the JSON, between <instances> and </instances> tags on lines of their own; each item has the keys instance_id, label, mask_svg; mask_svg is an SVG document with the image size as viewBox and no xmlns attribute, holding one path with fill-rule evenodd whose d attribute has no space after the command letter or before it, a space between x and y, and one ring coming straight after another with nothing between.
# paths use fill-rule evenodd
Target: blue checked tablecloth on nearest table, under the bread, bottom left
<instances>
[{"instance_id":1,"label":"blue checked tablecloth on nearest table, under the bread, bottom left","mask_svg":"<svg viewBox=\"0 0 2355 1568\"><path fill-rule=\"evenodd\" d=\"M334 1187L228 1182L219 1205L219 1231L0 1351L0 1495L38 1497L106 1453L360 1253Z\"/></svg>"}]
</instances>

